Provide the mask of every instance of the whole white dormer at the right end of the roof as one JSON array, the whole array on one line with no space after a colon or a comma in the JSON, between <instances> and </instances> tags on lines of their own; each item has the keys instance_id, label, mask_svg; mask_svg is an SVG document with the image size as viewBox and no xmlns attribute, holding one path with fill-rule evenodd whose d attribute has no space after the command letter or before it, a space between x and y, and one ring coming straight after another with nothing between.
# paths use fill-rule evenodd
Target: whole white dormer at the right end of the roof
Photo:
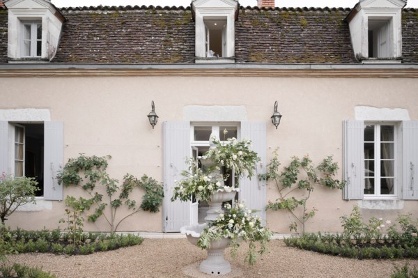
<instances>
[{"instance_id":1,"label":"whole white dormer at the right end of the roof","mask_svg":"<svg viewBox=\"0 0 418 278\"><path fill-rule=\"evenodd\" d=\"M353 51L363 63L401 63L404 0L360 0L346 21Z\"/></svg>"}]
</instances>

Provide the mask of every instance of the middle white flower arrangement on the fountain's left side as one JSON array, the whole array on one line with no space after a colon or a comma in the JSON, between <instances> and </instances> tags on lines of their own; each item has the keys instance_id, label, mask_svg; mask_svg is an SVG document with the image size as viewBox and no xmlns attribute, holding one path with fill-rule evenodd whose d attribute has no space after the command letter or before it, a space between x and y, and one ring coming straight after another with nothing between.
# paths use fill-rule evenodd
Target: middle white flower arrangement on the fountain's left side
<instances>
[{"instance_id":1,"label":"middle white flower arrangement on the fountain's left side","mask_svg":"<svg viewBox=\"0 0 418 278\"><path fill-rule=\"evenodd\" d=\"M239 191L238 188L223 185L222 175L215 173L203 173L195 160L188 159L188 171L183 171L185 179L176 181L174 194L171 201L180 199L180 201L190 201L192 195L198 201L210 201L212 194L216 192Z\"/></svg>"}]
</instances>

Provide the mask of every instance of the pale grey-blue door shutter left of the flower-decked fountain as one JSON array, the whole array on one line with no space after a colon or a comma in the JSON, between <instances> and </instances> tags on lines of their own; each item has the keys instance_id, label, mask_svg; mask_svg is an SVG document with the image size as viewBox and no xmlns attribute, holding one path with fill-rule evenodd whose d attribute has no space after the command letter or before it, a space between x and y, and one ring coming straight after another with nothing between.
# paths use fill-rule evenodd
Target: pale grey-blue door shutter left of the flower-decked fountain
<instances>
[{"instance_id":1,"label":"pale grey-blue door shutter left of the flower-decked fountain","mask_svg":"<svg viewBox=\"0 0 418 278\"><path fill-rule=\"evenodd\" d=\"M183 178L186 169L185 157L190 156L190 123L167 121L164 130L164 232L178 232L190 224L191 202L171 201L175 180Z\"/></svg>"}]
</instances>

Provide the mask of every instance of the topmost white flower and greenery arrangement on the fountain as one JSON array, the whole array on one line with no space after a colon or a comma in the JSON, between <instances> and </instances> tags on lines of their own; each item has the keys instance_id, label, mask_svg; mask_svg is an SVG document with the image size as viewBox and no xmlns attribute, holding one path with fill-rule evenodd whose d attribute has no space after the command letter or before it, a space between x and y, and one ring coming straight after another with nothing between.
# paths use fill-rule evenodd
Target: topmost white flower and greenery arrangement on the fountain
<instances>
[{"instance_id":1,"label":"topmost white flower and greenery arrangement on the fountain","mask_svg":"<svg viewBox=\"0 0 418 278\"><path fill-rule=\"evenodd\" d=\"M233 170L237 176L245 176L245 173L249 178L254 176L254 169L260 158L256 152L249 149L251 140L238 141L236 138L229 138L226 143L222 143L215 137L211 137L210 140L216 148L210 148L203 155L203 160L212 160L215 167L224 167L226 172Z\"/></svg>"}]
</instances>

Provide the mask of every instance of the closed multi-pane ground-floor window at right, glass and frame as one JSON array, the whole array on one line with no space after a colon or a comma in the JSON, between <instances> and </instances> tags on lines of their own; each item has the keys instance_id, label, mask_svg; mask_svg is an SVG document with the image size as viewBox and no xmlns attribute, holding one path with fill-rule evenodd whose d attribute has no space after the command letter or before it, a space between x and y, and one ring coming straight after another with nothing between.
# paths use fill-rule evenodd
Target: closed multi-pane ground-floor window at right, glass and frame
<instances>
[{"instance_id":1,"label":"closed multi-pane ground-floor window at right, glass and frame","mask_svg":"<svg viewBox=\"0 0 418 278\"><path fill-rule=\"evenodd\" d=\"M396 125L364 125L364 195L396 196Z\"/></svg>"}]
</instances>

